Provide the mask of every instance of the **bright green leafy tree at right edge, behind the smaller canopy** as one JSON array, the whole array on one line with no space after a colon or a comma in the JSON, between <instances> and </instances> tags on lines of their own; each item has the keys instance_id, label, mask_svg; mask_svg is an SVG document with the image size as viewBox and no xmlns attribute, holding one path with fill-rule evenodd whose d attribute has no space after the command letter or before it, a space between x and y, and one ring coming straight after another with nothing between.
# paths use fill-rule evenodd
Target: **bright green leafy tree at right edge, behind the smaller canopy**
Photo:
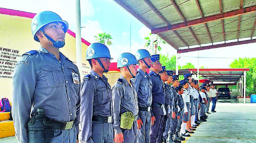
<instances>
[{"instance_id":1,"label":"bright green leafy tree at right edge, behind the smaller canopy","mask_svg":"<svg viewBox=\"0 0 256 143\"><path fill-rule=\"evenodd\" d=\"M235 59L230 65L230 68L250 68L246 72L246 94L251 95L256 93L256 58L239 58Z\"/></svg>"}]
</instances>

